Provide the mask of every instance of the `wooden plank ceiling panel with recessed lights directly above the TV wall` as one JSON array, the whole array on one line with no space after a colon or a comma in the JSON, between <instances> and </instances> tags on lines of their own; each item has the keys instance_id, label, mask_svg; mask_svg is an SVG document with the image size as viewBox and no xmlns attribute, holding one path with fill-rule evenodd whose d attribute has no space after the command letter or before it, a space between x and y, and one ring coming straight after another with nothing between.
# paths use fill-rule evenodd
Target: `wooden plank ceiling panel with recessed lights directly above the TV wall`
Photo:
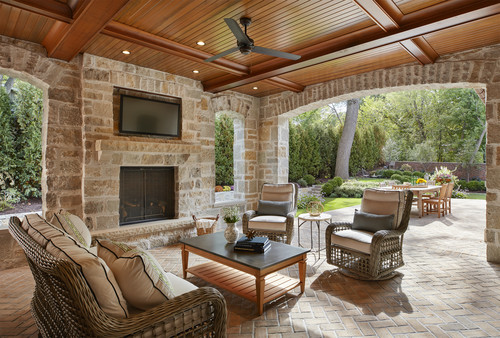
<instances>
[{"instance_id":1,"label":"wooden plank ceiling panel with recessed lights directly above the TV wall","mask_svg":"<svg viewBox=\"0 0 500 338\"><path fill-rule=\"evenodd\" d=\"M123 50L128 50L131 54L125 55L122 53ZM137 46L133 43L124 42L105 35L100 35L87 49L87 53L142 67L161 70L199 81L205 81L207 79L225 74L225 72L217 70L216 68L206 64L182 59L180 57L172 56L150 48ZM199 70L200 73L193 73L193 70L195 69Z\"/></svg>"}]
</instances>

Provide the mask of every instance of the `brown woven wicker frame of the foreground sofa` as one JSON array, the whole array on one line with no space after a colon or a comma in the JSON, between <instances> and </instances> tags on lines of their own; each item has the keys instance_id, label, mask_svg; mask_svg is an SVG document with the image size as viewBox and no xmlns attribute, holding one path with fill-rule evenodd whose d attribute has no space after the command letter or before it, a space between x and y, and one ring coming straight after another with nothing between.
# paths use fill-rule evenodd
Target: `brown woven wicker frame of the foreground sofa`
<instances>
[{"instance_id":1,"label":"brown woven wicker frame of the foreground sofa","mask_svg":"<svg viewBox=\"0 0 500 338\"><path fill-rule=\"evenodd\" d=\"M43 337L224 337L226 303L213 288L202 287L150 310L117 319L98 306L81 270L56 259L21 227L9 231L23 248L35 279L31 312Z\"/></svg>"}]
</instances>

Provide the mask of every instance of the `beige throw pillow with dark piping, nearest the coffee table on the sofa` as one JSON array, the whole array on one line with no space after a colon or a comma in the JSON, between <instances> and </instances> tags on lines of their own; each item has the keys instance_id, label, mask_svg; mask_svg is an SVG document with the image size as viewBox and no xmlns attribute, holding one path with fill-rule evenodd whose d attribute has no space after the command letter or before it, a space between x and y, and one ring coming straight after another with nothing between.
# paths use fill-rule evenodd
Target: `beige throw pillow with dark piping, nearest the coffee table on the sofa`
<instances>
[{"instance_id":1,"label":"beige throw pillow with dark piping, nearest the coffee table on the sofa","mask_svg":"<svg viewBox=\"0 0 500 338\"><path fill-rule=\"evenodd\" d=\"M99 256L113 270L125 299L138 309L148 310L187 292L182 290L191 291L196 288L187 281L192 287L186 287L185 283L176 281L175 285L178 285L180 290L175 290L171 274L163 271L160 263L140 248L108 240L98 240L97 246Z\"/></svg>"}]
</instances>

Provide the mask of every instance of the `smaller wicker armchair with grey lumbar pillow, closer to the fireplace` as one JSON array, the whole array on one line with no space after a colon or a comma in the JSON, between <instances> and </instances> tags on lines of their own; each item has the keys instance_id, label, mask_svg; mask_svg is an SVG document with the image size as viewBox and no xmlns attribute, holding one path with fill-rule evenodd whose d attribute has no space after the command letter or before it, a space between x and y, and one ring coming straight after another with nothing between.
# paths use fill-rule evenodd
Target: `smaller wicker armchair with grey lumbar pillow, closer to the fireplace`
<instances>
[{"instance_id":1,"label":"smaller wicker armchair with grey lumbar pillow, closer to the fireplace","mask_svg":"<svg viewBox=\"0 0 500 338\"><path fill-rule=\"evenodd\" d=\"M291 202L286 216L273 213L262 214L248 210L242 217L243 233L255 230L257 236L267 236L270 240L290 244L293 238L295 213L299 187L296 183L269 184L262 186L261 200ZM259 202L260 203L260 202Z\"/></svg>"}]
</instances>

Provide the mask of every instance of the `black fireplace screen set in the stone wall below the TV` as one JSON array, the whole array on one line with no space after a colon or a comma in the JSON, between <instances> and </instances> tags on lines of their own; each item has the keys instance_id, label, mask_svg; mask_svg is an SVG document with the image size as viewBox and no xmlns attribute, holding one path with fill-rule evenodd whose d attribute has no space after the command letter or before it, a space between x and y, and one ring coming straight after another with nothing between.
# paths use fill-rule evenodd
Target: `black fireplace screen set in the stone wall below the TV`
<instances>
[{"instance_id":1,"label":"black fireplace screen set in the stone wall below the TV","mask_svg":"<svg viewBox=\"0 0 500 338\"><path fill-rule=\"evenodd\" d=\"M174 168L120 168L120 225L175 217Z\"/></svg>"}]
</instances>

